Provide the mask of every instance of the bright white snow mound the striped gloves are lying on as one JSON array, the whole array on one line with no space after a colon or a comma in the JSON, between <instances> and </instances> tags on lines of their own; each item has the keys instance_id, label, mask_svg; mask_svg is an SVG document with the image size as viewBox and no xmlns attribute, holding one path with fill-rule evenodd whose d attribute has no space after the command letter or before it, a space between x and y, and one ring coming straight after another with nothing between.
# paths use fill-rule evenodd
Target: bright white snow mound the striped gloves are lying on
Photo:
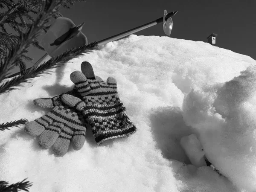
<instances>
[{"instance_id":1,"label":"bright white snow mound the striped gloves are lying on","mask_svg":"<svg viewBox=\"0 0 256 192\"><path fill-rule=\"evenodd\" d=\"M117 80L137 132L98 146L88 127L81 150L57 157L24 126L10 128L0 133L0 180L28 177L31 192L256 191L255 60L201 41L130 35L0 95L0 122L49 112L33 100L72 90L82 61Z\"/></svg>"}]
</instances>

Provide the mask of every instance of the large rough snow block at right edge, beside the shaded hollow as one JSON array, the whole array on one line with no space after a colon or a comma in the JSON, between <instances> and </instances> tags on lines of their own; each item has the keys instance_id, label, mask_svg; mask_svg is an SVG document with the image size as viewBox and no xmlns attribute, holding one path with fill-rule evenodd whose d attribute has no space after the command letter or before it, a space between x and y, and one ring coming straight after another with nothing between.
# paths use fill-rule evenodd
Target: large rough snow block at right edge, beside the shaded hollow
<instances>
[{"instance_id":1,"label":"large rough snow block at right edge, beside the shaded hollow","mask_svg":"<svg viewBox=\"0 0 256 192\"><path fill-rule=\"evenodd\" d=\"M239 189L256 191L256 66L225 83L184 97L187 125L198 133L207 159Z\"/></svg>"}]
</instances>

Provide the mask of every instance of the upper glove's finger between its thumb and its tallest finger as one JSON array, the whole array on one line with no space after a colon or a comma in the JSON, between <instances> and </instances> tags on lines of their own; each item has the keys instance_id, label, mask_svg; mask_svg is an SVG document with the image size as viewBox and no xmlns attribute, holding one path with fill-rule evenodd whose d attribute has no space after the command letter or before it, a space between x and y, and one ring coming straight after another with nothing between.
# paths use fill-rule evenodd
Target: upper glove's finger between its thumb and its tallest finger
<instances>
[{"instance_id":1,"label":"upper glove's finger between its thumb and its tallest finger","mask_svg":"<svg viewBox=\"0 0 256 192\"><path fill-rule=\"evenodd\" d=\"M77 91L82 97L90 94L91 88L86 76L84 76L83 73L80 71L74 71L70 74L70 79L73 81L73 83L75 83Z\"/></svg>"}]
</instances>

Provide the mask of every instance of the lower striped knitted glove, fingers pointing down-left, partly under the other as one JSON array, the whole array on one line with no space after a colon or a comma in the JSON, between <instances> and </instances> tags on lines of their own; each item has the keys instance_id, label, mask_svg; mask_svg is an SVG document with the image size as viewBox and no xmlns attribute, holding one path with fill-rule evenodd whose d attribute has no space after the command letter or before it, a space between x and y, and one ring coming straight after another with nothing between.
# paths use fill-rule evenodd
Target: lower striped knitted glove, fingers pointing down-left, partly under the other
<instances>
[{"instance_id":1,"label":"lower striped knitted glove, fingers pointing down-left, partly under the other","mask_svg":"<svg viewBox=\"0 0 256 192\"><path fill-rule=\"evenodd\" d=\"M67 94L79 96L76 88ZM38 144L41 148L50 148L53 145L53 151L58 155L64 155L67 152L70 141L75 150L81 149L84 145L86 130L83 117L61 101L62 95L35 99L35 105L53 109L35 121L29 122L24 128L29 135L34 137L40 135Z\"/></svg>"}]
</instances>

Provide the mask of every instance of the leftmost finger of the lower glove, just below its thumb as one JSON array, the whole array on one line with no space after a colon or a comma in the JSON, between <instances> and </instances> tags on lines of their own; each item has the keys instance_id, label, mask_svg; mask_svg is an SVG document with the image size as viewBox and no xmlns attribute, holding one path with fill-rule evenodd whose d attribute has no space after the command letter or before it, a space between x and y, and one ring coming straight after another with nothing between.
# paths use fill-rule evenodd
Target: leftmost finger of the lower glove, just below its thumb
<instances>
[{"instance_id":1,"label":"leftmost finger of the lower glove, just below its thumb","mask_svg":"<svg viewBox=\"0 0 256 192\"><path fill-rule=\"evenodd\" d=\"M50 116L49 112L49 116ZM47 115L48 115L47 114ZM52 119L49 119L47 116L42 116L35 121L29 122L25 127L24 131L34 137L41 135L45 129L52 124Z\"/></svg>"}]
</instances>

